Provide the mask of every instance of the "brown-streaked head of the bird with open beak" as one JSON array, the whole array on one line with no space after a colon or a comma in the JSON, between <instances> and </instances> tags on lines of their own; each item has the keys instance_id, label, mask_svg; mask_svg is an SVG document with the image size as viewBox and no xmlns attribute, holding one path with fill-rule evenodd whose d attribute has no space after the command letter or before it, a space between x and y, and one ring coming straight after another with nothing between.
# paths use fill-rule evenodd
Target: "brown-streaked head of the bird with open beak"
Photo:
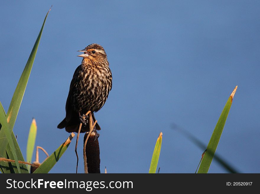
<instances>
[{"instance_id":1,"label":"brown-streaked head of the bird with open beak","mask_svg":"<svg viewBox=\"0 0 260 194\"><path fill-rule=\"evenodd\" d=\"M78 57L83 57L83 63L100 64L107 62L107 55L104 48L96 43L88 45L85 49L78 51L84 52L84 54L78 55Z\"/></svg>"}]
</instances>

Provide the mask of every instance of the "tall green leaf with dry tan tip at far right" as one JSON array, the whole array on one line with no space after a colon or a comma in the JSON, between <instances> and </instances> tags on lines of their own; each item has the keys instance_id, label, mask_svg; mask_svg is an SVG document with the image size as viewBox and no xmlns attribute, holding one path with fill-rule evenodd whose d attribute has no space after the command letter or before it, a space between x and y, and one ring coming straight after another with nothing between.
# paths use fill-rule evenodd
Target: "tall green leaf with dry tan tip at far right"
<instances>
[{"instance_id":1,"label":"tall green leaf with dry tan tip at far right","mask_svg":"<svg viewBox=\"0 0 260 194\"><path fill-rule=\"evenodd\" d=\"M231 93L230 97L228 98L228 101L227 101L224 109L222 110L220 118L217 121L217 125L216 125L216 127L215 127L215 129L212 133L212 136L209 140L209 144L207 146L207 151L204 154L204 157L203 157L202 162L200 164L198 173L208 173L208 171L209 171L210 164L212 162L215 151L217 149L217 145L219 143L223 128L224 128L226 120L228 118L228 113L229 113L230 107L232 105L233 97L235 95L237 88L238 88L238 86L235 87L235 89Z\"/></svg>"}]
</instances>

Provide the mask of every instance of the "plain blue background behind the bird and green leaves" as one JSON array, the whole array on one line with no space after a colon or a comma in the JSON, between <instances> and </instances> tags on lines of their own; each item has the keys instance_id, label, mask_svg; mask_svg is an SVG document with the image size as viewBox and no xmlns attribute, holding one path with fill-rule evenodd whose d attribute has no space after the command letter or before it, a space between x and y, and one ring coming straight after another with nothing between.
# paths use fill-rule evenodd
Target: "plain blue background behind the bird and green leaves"
<instances>
[{"instance_id":1,"label":"plain blue background behind the bird and green leaves","mask_svg":"<svg viewBox=\"0 0 260 194\"><path fill-rule=\"evenodd\" d=\"M203 151L171 125L208 144L236 85L217 153L240 172L260 172L259 1L1 1L0 100L6 111L51 5L14 126L24 156L32 117L36 145L49 154L69 136L57 125L82 60L76 51L98 43L113 74L108 100L95 114L102 128L101 172L106 166L108 173L147 173L162 131L160 172L194 173ZM75 141L50 172L75 172ZM226 171L213 160L209 172Z\"/></svg>"}]
</instances>

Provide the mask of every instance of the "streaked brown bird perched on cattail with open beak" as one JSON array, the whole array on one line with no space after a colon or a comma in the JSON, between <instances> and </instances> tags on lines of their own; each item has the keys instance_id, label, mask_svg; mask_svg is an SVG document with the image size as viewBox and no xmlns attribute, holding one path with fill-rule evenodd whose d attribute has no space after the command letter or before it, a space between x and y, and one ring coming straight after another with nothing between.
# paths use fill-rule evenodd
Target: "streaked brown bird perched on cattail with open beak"
<instances>
[{"instance_id":1,"label":"streaked brown bird perched on cattail with open beak","mask_svg":"<svg viewBox=\"0 0 260 194\"><path fill-rule=\"evenodd\" d=\"M78 132L80 123L83 124L81 132L89 131L87 117L83 119L83 116L86 116L84 114L90 110L94 123L94 112L103 107L112 88L112 74L104 48L98 44L91 44L79 52L84 52L78 56L83 57L83 60L75 70L70 83L66 117L58 124L58 128L65 127L68 132ZM94 129L100 130L98 123Z\"/></svg>"}]
</instances>

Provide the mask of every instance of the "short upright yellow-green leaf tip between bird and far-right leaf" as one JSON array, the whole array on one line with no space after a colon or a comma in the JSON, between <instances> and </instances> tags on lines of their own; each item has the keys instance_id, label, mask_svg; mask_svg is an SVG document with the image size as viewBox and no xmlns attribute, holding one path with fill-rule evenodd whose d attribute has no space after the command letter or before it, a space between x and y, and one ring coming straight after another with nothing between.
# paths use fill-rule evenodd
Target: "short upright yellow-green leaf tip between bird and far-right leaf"
<instances>
[{"instance_id":1,"label":"short upright yellow-green leaf tip between bird and far-right leaf","mask_svg":"<svg viewBox=\"0 0 260 194\"><path fill-rule=\"evenodd\" d=\"M157 164L159 161L161 146L162 146L162 140L163 140L163 133L160 132L159 137L157 138L155 149L152 154L152 161L150 164L149 173L155 173L157 169Z\"/></svg>"}]
</instances>

